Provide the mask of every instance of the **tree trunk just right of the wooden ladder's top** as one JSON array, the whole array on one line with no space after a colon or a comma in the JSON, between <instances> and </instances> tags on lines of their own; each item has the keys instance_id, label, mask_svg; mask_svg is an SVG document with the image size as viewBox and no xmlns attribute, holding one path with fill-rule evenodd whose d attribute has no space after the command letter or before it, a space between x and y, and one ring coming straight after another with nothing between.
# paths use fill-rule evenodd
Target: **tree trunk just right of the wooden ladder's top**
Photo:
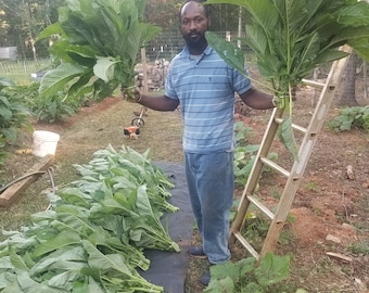
<instances>
[{"instance_id":1,"label":"tree trunk just right of the wooden ladder's top","mask_svg":"<svg viewBox=\"0 0 369 293\"><path fill-rule=\"evenodd\" d=\"M342 95L338 102L339 105L345 106L356 106L358 102L356 101L356 53L353 51L349 54L346 72L345 72L345 80L344 80L344 88L342 91Z\"/></svg>"}]
</instances>

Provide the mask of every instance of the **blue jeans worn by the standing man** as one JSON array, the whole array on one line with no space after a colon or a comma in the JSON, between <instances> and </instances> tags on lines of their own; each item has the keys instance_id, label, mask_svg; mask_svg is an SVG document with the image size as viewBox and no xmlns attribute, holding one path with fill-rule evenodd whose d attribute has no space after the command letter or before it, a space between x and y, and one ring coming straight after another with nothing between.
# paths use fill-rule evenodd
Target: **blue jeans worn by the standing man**
<instances>
[{"instance_id":1,"label":"blue jeans worn by the standing man","mask_svg":"<svg viewBox=\"0 0 369 293\"><path fill-rule=\"evenodd\" d=\"M229 214L233 201L233 153L184 153L186 175L203 250L211 264L230 259Z\"/></svg>"}]
</instances>

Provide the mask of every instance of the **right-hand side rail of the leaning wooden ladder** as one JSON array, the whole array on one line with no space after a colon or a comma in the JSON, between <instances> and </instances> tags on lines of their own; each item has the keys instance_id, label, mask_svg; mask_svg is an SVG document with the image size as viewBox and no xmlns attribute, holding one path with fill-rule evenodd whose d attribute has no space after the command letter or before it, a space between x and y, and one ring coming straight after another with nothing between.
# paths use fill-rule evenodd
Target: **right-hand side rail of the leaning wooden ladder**
<instances>
[{"instance_id":1,"label":"right-hand side rail of the leaning wooden ladder","mask_svg":"<svg viewBox=\"0 0 369 293\"><path fill-rule=\"evenodd\" d=\"M351 48L343 48L344 51L351 52ZM319 101L315 109L314 115L310 119L309 126L307 128L307 133L304 136L303 142L301 144L298 151L298 162L294 162L291 176L289 177L284 190L282 192L281 199L277 206L275 218L269 226L268 233L264 241L264 245L259 253L259 257L263 258L268 252L273 251L275 246L278 242L279 235L282 231L284 222L287 220L288 214L291 209L292 202L294 200L295 193L298 189L301 178L305 171L306 165L309 161L309 157L313 153L314 145L317 141L317 135L319 133L327 113L333 102L334 94L336 91L336 86L340 82L340 78L342 76L342 72L346 65L347 58L334 61L326 86L320 94Z\"/></svg>"}]
</instances>

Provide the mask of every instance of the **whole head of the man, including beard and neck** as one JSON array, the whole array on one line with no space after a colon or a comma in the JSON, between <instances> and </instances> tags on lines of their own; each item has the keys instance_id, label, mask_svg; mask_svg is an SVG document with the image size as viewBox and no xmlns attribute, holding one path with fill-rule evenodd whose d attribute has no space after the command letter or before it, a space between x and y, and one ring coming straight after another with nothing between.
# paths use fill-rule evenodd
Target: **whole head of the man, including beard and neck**
<instances>
[{"instance_id":1,"label":"whole head of the man, including beard and neck","mask_svg":"<svg viewBox=\"0 0 369 293\"><path fill-rule=\"evenodd\" d=\"M187 1L179 12L180 31L190 52L194 54L201 54L205 50L205 31L211 24L209 9L201 4L202 2L204 1Z\"/></svg>"}]
</instances>

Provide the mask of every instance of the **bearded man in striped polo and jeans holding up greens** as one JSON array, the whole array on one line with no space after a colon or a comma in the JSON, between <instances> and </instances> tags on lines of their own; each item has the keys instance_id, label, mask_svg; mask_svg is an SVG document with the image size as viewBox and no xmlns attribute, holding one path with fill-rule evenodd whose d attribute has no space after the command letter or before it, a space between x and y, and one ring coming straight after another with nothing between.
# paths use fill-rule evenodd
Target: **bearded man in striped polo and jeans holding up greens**
<instances>
[{"instance_id":1,"label":"bearded man in striped polo and jeans holding up greens","mask_svg":"<svg viewBox=\"0 0 369 293\"><path fill-rule=\"evenodd\" d=\"M194 257L211 265L230 259L229 213L233 201L234 92L258 110L273 107L272 97L254 89L251 81L228 66L207 44L209 7L187 1L180 10L183 50L173 60L165 94L136 92L136 102L156 111L174 111L180 104L186 174L202 246L190 246ZM201 277L207 285L209 269Z\"/></svg>"}]
</instances>

